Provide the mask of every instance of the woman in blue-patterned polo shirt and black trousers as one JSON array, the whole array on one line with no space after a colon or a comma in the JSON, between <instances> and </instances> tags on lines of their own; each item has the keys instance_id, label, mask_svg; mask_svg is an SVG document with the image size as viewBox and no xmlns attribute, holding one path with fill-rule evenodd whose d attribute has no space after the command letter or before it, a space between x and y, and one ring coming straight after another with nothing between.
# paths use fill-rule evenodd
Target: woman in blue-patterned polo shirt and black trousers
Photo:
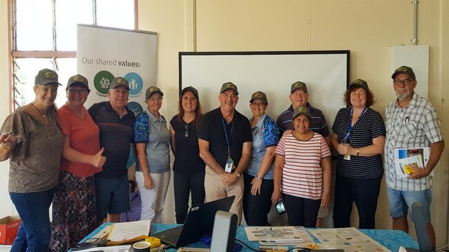
<instances>
[{"instance_id":1,"label":"woman in blue-patterned polo shirt and black trousers","mask_svg":"<svg viewBox=\"0 0 449 252\"><path fill-rule=\"evenodd\" d=\"M268 101L264 92L255 92L251 96L249 107L253 114L249 120L253 142L251 159L243 174L243 213L249 226L267 226L274 188L274 151L279 142L280 130L274 120L265 114Z\"/></svg>"}]
</instances>

